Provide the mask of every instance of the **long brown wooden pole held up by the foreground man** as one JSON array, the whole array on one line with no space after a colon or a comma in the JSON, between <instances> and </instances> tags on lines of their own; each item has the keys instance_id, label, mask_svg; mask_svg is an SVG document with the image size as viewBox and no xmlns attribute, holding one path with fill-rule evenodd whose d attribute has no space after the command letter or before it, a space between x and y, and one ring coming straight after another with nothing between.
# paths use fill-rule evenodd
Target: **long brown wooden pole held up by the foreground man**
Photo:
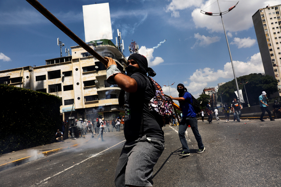
<instances>
[{"instance_id":1,"label":"long brown wooden pole held up by the foreground man","mask_svg":"<svg viewBox=\"0 0 281 187\"><path fill-rule=\"evenodd\" d=\"M93 55L96 59L98 59L104 65L107 65L106 59L104 59L101 55L99 55L95 50L93 50L87 43L81 40L77 35L75 35L69 28L67 28L61 21L59 21L52 13L50 13L43 5L41 5L36 0L26 0L30 5L32 5L35 9L37 9L42 15L44 15L48 20L50 20L54 25L56 25L61 31L63 31L66 35L68 35L73 41L75 41L78 45L83 47L86 51L88 51L91 55Z\"/></svg>"}]
</instances>

